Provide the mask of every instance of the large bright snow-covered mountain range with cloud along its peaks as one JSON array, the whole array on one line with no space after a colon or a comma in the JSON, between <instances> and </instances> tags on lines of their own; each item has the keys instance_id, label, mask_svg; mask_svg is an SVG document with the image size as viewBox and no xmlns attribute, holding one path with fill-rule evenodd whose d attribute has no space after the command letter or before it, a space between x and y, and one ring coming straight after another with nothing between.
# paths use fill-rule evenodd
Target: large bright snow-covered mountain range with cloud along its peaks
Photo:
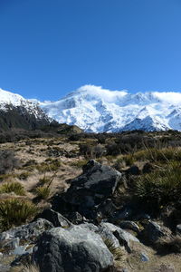
<instances>
[{"instance_id":1,"label":"large bright snow-covered mountain range with cloud along its peaks","mask_svg":"<svg viewBox=\"0 0 181 272\"><path fill-rule=\"evenodd\" d=\"M60 123L84 131L181 131L181 93L110 91L85 85L57 102L39 102Z\"/></svg>"}]
</instances>

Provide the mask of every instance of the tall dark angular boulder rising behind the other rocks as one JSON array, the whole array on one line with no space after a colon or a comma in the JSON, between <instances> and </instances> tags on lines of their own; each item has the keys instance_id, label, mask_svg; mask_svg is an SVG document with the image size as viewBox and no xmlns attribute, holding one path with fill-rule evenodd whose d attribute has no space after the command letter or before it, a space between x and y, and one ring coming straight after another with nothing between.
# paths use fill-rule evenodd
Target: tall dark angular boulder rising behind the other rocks
<instances>
[{"instance_id":1,"label":"tall dark angular boulder rising behind the other rocks","mask_svg":"<svg viewBox=\"0 0 181 272\"><path fill-rule=\"evenodd\" d=\"M71 181L66 193L52 201L52 209L61 209L61 213L78 211L87 219L95 219L96 207L113 195L120 178L119 171L90 160L81 176Z\"/></svg>"}]
</instances>

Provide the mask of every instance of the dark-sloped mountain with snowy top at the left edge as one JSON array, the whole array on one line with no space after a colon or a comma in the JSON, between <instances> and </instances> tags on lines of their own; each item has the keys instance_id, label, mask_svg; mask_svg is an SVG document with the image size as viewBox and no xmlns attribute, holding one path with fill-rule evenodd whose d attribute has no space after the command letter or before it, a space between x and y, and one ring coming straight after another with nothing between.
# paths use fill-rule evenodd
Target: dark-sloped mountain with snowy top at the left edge
<instances>
[{"instance_id":1,"label":"dark-sloped mountain with snowy top at the left edge","mask_svg":"<svg viewBox=\"0 0 181 272\"><path fill-rule=\"evenodd\" d=\"M10 128L35 129L50 123L50 118L38 104L19 94L0 89L0 130Z\"/></svg>"}]
</instances>

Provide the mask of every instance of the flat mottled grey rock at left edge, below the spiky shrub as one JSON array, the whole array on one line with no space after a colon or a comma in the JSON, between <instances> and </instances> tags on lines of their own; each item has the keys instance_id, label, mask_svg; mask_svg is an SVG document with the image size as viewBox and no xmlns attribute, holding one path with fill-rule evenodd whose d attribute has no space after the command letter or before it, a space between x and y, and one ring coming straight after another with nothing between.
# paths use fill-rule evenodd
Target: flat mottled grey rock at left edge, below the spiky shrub
<instances>
[{"instance_id":1,"label":"flat mottled grey rock at left edge, below the spiky shrub","mask_svg":"<svg viewBox=\"0 0 181 272\"><path fill-rule=\"evenodd\" d=\"M27 253L26 248L28 248L29 243L35 242L43 231L50 228L53 228L52 223L45 219L37 219L27 225L11 228L0 234L0 247L5 252L23 255Z\"/></svg>"}]
</instances>

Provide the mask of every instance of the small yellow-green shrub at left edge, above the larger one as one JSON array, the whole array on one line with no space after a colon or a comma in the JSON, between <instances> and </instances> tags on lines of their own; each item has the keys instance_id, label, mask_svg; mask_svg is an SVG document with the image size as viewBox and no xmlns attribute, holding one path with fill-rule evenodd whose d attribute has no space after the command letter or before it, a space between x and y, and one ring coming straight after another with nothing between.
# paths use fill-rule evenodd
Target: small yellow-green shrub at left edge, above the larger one
<instances>
[{"instance_id":1,"label":"small yellow-green shrub at left edge, above the larger one","mask_svg":"<svg viewBox=\"0 0 181 272\"><path fill-rule=\"evenodd\" d=\"M18 196L24 196L24 186L19 182L7 182L0 187L0 193L14 192Z\"/></svg>"}]
</instances>

